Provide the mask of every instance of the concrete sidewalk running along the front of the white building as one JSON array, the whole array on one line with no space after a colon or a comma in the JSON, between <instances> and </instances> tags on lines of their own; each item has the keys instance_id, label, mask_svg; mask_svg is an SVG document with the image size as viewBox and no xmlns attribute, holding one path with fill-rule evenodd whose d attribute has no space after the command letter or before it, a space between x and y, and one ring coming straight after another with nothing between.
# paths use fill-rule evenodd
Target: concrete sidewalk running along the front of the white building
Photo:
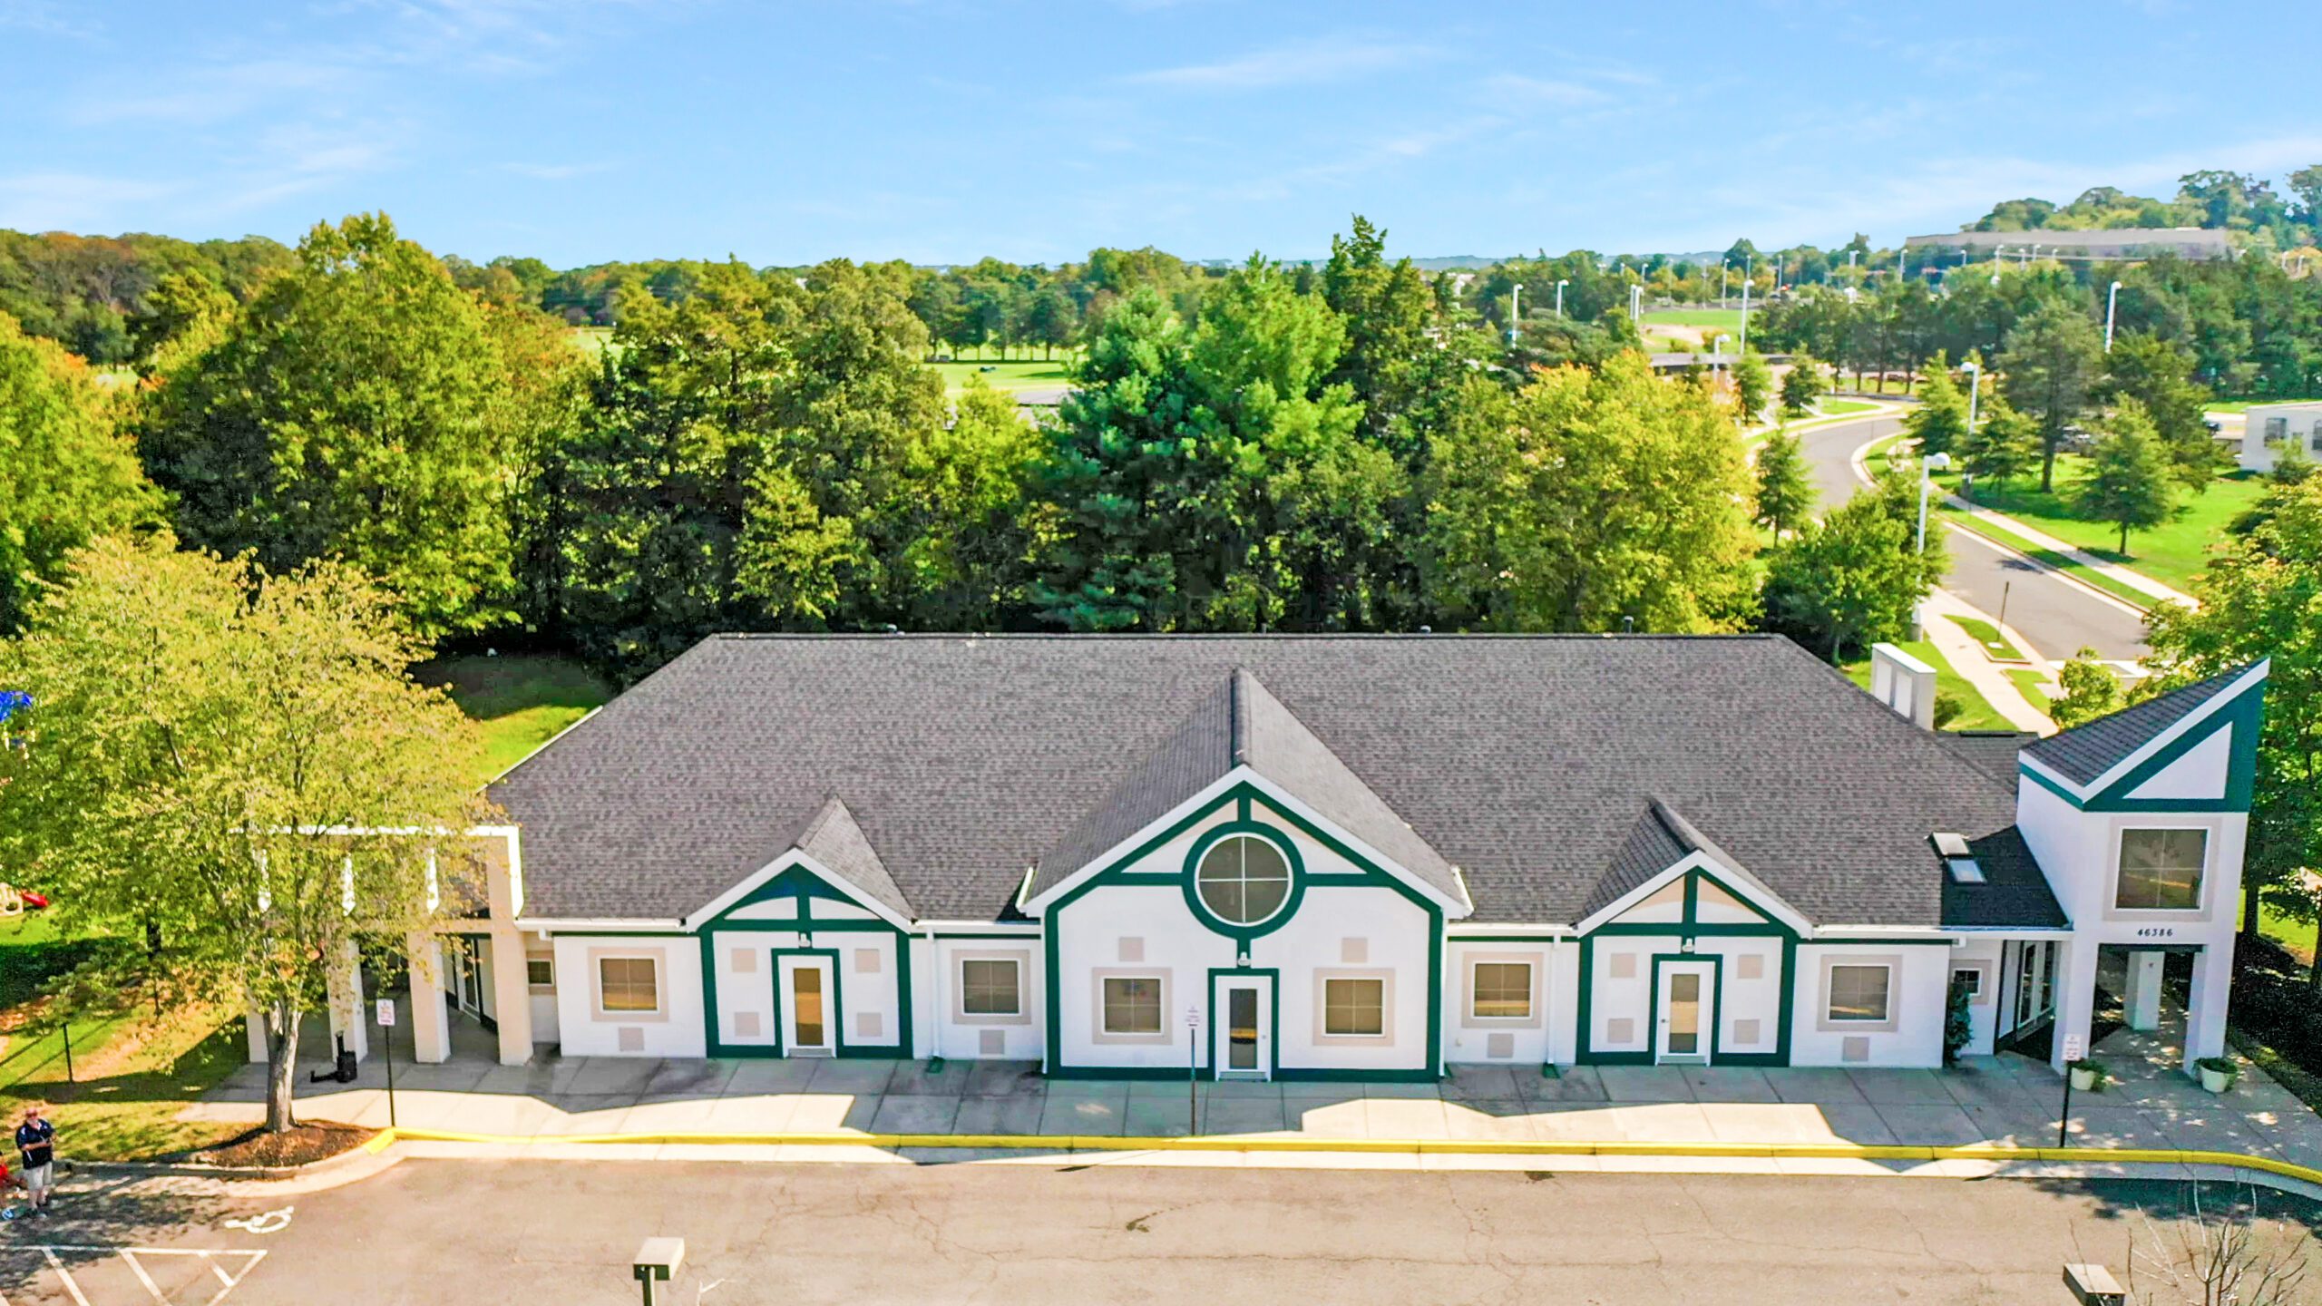
<instances>
[{"instance_id":1,"label":"concrete sidewalk running along the front of the white building","mask_svg":"<svg viewBox=\"0 0 2322 1306\"><path fill-rule=\"evenodd\" d=\"M2255 1067L2245 1069L2231 1092L2213 1097L2173 1069L2173 1050L2152 1034L2120 1032L2099 1055L2120 1083L2099 1095L2074 1095L2074 1148L2229 1150L2322 1167L2322 1120ZM385 1125L385 1092L372 1074L365 1081L302 1097L300 1115ZM262 1118L262 1067L248 1067L186 1115L253 1122ZM1184 1136L1191 1132L1189 1115L1198 1108L1203 1136L1307 1143L1458 1139L2029 1148L2055 1146L2062 1081L2043 1062L2018 1055L1971 1057L1950 1071L1572 1067L1551 1078L1537 1067L1456 1067L1440 1083L1203 1085L1175 1078L1050 1081L1029 1062L952 1062L929 1069L924 1062L859 1057L543 1057L529 1067L481 1060L402 1067L395 1097L395 1115L404 1127L534 1143L580 1134L859 1132L1019 1134L1029 1146L1043 1146L1031 1139ZM446 1146L420 1148L425 1155L427 1148L441 1153ZM657 1155L657 1148L646 1150ZM697 1150L680 1148L673 1155ZM778 1160L803 1155L792 1155L796 1148L759 1148L752 1155L759 1153L780 1155ZM1412 1167L1440 1164L1437 1157L1379 1157L1379 1164L1396 1160ZM1788 1164L1793 1162L1767 1162L1758 1169Z\"/></svg>"}]
</instances>

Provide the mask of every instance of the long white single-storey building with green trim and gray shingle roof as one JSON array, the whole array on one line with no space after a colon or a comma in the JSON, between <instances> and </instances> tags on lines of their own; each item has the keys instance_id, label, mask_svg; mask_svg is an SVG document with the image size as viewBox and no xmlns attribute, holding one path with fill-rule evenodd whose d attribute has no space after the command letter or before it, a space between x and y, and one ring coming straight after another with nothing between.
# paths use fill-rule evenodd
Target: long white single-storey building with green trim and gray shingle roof
<instances>
[{"instance_id":1,"label":"long white single-storey building with green trim and gray shingle roof","mask_svg":"<svg viewBox=\"0 0 2322 1306\"><path fill-rule=\"evenodd\" d=\"M469 955L513 1062L1925 1067L1955 1006L1967 1050L2060 1057L2106 953L2132 1025L2178 957L2187 1057L2220 1050L2266 667L2039 741L1925 730L1883 669L1885 702L1767 637L706 639L492 785Z\"/></svg>"}]
</instances>

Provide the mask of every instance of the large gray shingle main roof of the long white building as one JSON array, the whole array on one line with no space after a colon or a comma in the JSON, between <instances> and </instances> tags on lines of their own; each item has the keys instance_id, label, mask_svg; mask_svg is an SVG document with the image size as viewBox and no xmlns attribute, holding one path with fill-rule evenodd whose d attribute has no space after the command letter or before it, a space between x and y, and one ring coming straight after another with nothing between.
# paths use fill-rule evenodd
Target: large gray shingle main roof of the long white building
<instances>
[{"instance_id":1,"label":"large gray shingle main roof of the long white building","mask_svg":"<svg viewBox=\"0 0 2322 1306\"><path fill-rule=\"evenodd\" d=\"M1198 788L1238 667L1286 718L1252 746L1300 765L1298 723L1344 769L1303 797L1354 776L1465 871L1474 920L1579 920L1660 797L1818 923L1937 925L1927 837L2015 818L2013 785L1774 637L717 637L492 799L539 918L683 916L834 792L917 913L996 918L1103 837L1073 839L1091 813Z\"/></svg>"}]
</instances>

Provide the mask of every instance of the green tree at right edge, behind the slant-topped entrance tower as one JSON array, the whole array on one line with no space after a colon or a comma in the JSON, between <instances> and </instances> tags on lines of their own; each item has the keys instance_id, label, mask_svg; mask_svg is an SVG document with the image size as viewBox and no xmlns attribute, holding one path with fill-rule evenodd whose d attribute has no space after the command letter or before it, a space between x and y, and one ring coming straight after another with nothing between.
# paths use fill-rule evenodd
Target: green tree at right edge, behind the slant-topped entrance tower
<instances>
[{"instance_id":1,"label":"green tree at right edge, behind the slant-topped entrance tower","mask_svg":"<svg viewBox=\"0 0 2322 1306\"><path fill-rule=\"evenodd\" d=\"M2199 609L2157 604L2146 639L2155 688L2273 660L2257 741L2243 932L2259 897L2313 918L2301 871L2322 867L2322 476L2266 490L2269 511L2192 581ZM2313 974L2322 988L2322 969Z\"/></svg>"}]
</instances>

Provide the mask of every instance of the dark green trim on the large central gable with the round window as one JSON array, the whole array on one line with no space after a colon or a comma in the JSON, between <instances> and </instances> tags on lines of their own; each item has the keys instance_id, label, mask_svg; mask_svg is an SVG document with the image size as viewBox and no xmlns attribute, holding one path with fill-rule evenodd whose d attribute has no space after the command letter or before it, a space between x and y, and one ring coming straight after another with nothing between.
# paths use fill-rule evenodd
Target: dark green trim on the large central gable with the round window
<instances>
[{"instance_id":1,"label":"dark green trim on the large central gable with the round window","mask_svg":"<svg viewBox=\"0 0 2322 1306\"><path fill-rule=\"evenodd\" d=\"M1221 825L1217 832L1205 832L1203 841L1196 844L1196 848L1194 848L1194 853L1187 860L1187 864L1184 864L1182 871L1177 871L1177 874L1152 874L1152 871L1128 871L1128 869L1124 869L1124 867L1138 864L1142 857L1152 855L1156 848L1161 848L1168 841L1182 837L1187 830L1200 825L1203 820L1210 820L1226 804L1233 804L1233 813L1235 813L1233 820L1228 820L1226 825ZM1261 825L1261 816L1268 823L1272 823L1272 825ZM1089 878L1080 881L1077 885L1073 885L1070 890L1061 892L1054 902L1047 904L1047 911L1043 913L1045 916L1045 930L1040 932L1043 964L1047 967L1047 974L1045 974L1045 981L1047 981L1045 983L1045 988L1047 988L1047 1002L1045 1002L1045 1006L1047 1006L1045 1069L1047 1069L1047 1074L1061 1076L1061 1078L1166 1078L1166 1076L1082 1074L1082 1071L1091 1071L1091 1069L1101 1071L1103 1067L1077 1067L1077 1064L1066 1064L1063 1062L1063 992L1061 992L1061 983L1059 983L1059 976L1063 971L1063 955L1061 955L1063 943L1059 939L1059 934L1061 934L1059 925L1063 920L1063 911L1070 904L1080 902L1080 897L1084 897L1087 892L1091 892L1096 888L1103 888L1103 885L1182 885L1184 895L1191 902L1196 897L1194 895L1194 867L1200 864L1200 853L1205 851L1207 844L1214 844L1217 837L1221 837L1224 832L1231 832L1235 827L1256 827L1259 832L1268 832L1270 837L1279 839L1282 832L1275 830L1275 825L1286 825L1286 827L1305 834L1307 839L1314 839L1317 844L1321 844L1324 848L1331 848L1333 853L1337 853L1340 857L1344 857L1349 864L1354 864L1361 871L1356 876L1347 876L1347 874L1319 876L1321 883L1389 888L1389 890L1402 895L1407 902L1412 902L1414 906L1419 906L1426 913L1426 927L1428 927L1428 1043L1426 1043L1426 1055L1428 1055L1428 1067L1426 1067L1426 1071L1400 1071L1400 1074L1409 1074L1409 1078L1442 1078L1442 1018L1444 1018L1442 1016L1442 983L1444 983L1444 978L1442 978L1444 976L1444 913L1442 913L1442 906L1437 906L1433 899L1428 899L1426 895L1421 895L1412 885L1402 883L1398 876L1393 876L1386 869L1377 867L1370 857L1363 857L1361 853L1356 853L1347 844L1337 841L1335 837L1331 837L1328 832L1324 832L1321 827L1317 827L1312 820L1305 820L1303 816L1291 813L1291 811L1275 809L1265 799L1265 795L1256 785L1252 785L1247 781L1238 781L1233 788L1228 788L1226 792L1217 795L1207 804L1203 804L1203 806L1198 806L1198 809L1194 809L1194 811L1189 811L1184 816L1180 816L1168 827L1159 830L1154 837L1145 839L1142 844L1138 844L1128 853L1122 853L1119 857L1112 857L1110 862L1105 862L1105 869L1091 874ZM1296 848L1291 848L1291 857L1296 857ZM1307 876L1303 874L1300 867L1303 867L1300 862L1296 862L1296 860L1291 862L1291 902L1286 902L1282 906L1282 911L1277 911L1270 920L1265 920L1259 927L1254 927L1254 934L1263 934L1263 932L1268 932L1268 927L1286 923L1293 916L1298 902L1303 902L1303 897L1305 897L1305 888L1303 885L1305 885ZM1226 937L1235 937L1235 927L1224 927L1221 923L1217 923L1207 911L1203 911L1198 906L1198 902L1194 902L1191 906L1194 906L1194 913L1196 913L1194 918L1200 920L1205 927L1210 927L1212 932L1226 934ZM1247 943L1247 939L1238 939L1238 943ZM1207 1002L1212 1002L1212 997L1214 997L1214 988L1212 988L1212 995L1203 997L1203 1002L1207 1004ZM1282 985L1277 981L1275 983L1275 1004L1279 1006L1279 1002L1282 1002ZM1277 1039L1275 1060L1279 1060L1279 1055L1282 1055L1279 1053L1279 1036L1282 1036L1282 1032L1277 1027L1275 1029L1275 1039ZM1307 1076L1307 1071L1300 1071L1296 1067L1282 1069L1279 1074L1282 1074L1282 1078L1305 1078ZM1349 1074L1347 1078L1398 1078L1398 1071L1358 1071L1358 1074Z\"/></svg>"}]
</instances>

